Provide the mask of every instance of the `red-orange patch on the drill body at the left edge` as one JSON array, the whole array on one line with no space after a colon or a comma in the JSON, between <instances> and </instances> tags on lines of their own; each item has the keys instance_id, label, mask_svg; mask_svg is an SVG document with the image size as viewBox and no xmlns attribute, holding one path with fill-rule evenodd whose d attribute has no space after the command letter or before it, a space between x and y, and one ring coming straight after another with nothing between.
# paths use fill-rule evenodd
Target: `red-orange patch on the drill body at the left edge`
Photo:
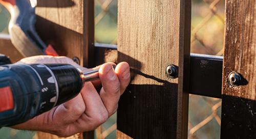
<instances>
[{"instance_id":1,"label":"red-orange patch on the drill body at the left edge","mask_svg":"<svg viewBox=\"0 0 256 139\"><path fill-rule=\"evenodd\" d=\"M10 87L0 88L0 113L14 108Z\"/></svg>"}]
</instances>

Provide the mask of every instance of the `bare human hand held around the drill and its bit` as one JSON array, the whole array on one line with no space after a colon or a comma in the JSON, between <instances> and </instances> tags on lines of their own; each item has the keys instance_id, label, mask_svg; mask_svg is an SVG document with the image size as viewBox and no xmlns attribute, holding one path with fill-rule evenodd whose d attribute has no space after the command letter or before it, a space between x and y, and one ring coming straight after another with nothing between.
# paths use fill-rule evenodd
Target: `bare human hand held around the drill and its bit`
<instances>
[{"instance_id":1,"label":"bare human hand held around the drill and its bit","mask_svg":"<svg viewBox=\"0 0 256 139\"><path fill-rule=\"evenodd\" d=\"M71 64L83 72L83 68L67 57L35 56L20 60L23 64ZM37 130L67 137L78 132L97 128L113 115L118 107L120 95L130 82L130 67L126 62L119 63L113 70L113 63L99 68L102 88L98 93L91 82L86 82L80 94L66 103L60 104L49 112L13 126L16 129Z\"/></svg>"}]
</instances>

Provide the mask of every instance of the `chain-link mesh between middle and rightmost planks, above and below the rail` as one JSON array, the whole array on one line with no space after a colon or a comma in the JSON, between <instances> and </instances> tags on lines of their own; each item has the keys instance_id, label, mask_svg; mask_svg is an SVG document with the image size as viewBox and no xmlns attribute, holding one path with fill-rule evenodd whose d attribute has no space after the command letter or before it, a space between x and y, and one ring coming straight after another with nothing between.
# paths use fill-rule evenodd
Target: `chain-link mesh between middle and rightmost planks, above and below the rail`
<instances>
[{"instance_id":1,"label":"chain-link mesh between middle and rightmost planks, above and below the rail","mask_svg":"<svg viewBox=\"0 0 256 139\"><path fill-rule=\"evenodd\" d=\"M223 55L224 0L192 0L191 52ZM220 138L221 99L189 96L188 138Z\"/></svg>"}]
</instances>

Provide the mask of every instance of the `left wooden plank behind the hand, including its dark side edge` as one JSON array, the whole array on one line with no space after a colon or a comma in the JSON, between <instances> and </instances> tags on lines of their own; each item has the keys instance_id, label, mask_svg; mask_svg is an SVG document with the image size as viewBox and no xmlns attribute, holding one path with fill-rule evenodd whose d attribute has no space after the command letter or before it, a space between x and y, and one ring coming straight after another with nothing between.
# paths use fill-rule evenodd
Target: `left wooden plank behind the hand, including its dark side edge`
<instances>
[{"instance_id":1,"label":"left wooden plank behind the hand, including its dark side edge","mask_svg":"<svg viewBox=\"0 0 256 139\"><path fill-rule=\"evenodd\" d=\"M52 44L60 55L77 57L80 65L94 66L94 1L38 0L36 14L36 29L44 41ZM39 139L50 136L58 138L37 134ZM82 133L71 138L82 138ZM84 138L93 138L93 131L84 133Z\"/></svg>"}]
</instances>

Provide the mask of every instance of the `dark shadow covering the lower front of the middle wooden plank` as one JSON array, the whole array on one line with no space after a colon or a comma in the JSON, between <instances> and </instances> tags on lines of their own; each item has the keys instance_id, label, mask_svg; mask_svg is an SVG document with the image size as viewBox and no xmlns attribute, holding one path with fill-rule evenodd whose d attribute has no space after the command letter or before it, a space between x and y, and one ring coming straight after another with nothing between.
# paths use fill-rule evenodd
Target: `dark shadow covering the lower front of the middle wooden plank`
<instances>
[{"instance_id":1,"label":"dark shadow covering the lower front of the middle wooden plank","mask_svg":"<svg viewBox=\"0 0 256 139\"><path fill-rule=\"evenodd\" d=\"M168 88L178 84L130 85L119 101L118 130L132 138L176 138L177 94Z\"/></svg>"}]
</instances>

